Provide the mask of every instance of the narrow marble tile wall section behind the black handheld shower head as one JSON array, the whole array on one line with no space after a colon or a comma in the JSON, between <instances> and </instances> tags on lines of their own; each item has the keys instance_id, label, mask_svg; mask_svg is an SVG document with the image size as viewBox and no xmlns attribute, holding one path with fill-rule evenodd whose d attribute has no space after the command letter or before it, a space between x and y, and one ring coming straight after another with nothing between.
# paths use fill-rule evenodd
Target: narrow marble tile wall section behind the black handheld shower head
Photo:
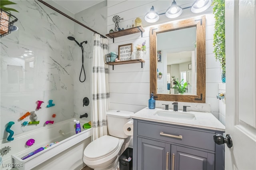
<instances>
[{"instance_id":1,"label":"narrow marble tile wall section behind the black handheld shower head","mask_svg":"<svg viewBox=\"0 0 256 170\"><path fill-rule=\"evenodd\" d=\"M75 14L75 19L96 32L105 35L106 34L106 14L107 14L107 2L100 2L86 10ZM83 98L91 96L91 73L92 73L92 49L94 32L75 24L74 28L75 38L80 43L87 41L87 44L83 44L84 47L84 69L86 72L86 81L81 83L79 81L80 71L82 67L82 52L78 45L75 45L74 50L74 112L75 117L80 117L84 113L88 113L87 119L90 121L91 117L91 101L88 106L83 107ZM82 74L83 75L83 74ZM84 79L83 76L81 79Z\"/></svg>"}]
</instances>

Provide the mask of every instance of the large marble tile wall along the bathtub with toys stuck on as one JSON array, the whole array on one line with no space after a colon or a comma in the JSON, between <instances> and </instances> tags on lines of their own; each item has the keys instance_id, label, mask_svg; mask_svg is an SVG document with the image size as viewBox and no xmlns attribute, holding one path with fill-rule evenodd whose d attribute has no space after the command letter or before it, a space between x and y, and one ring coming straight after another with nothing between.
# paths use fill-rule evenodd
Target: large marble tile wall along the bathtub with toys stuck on
<instances>
[{"instance_id":1,"label":"large marble tile wall along the bathtub with toys stuck on","mask_svg":"<svg viewBox=\"0 0 256 170\"><path fill-rule=\"evenodd\" d=\"M37 0L14 1L19 13L18 31L1 38L0 138L8 137L6 124L13 121L14 135L74 117L74 22ZM37 101L44 101L36 111ZM54 107L46 108L53 100ZM38 125L22 126L26 112L36 111ZM52 118L56 114L56 118Z\"/></svg>"}]
</instances>

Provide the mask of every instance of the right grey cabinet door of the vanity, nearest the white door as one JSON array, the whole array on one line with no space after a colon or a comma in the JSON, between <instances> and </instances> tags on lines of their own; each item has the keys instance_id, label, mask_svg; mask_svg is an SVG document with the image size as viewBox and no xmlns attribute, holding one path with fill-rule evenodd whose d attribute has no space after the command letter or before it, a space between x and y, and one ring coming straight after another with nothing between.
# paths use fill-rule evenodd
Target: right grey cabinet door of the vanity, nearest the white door
<instances>
[{"instance_id":1,"label":"right grey cabinet door of the vanity, nearest the white door","mask_svg":"<svg viewBox=\"0 0 256 170\"><path fill-rule=\"evenodd\" d=\"M214 154L176 145L171 148L171 170L214 170Z\"/></svg>"}]
</instances>

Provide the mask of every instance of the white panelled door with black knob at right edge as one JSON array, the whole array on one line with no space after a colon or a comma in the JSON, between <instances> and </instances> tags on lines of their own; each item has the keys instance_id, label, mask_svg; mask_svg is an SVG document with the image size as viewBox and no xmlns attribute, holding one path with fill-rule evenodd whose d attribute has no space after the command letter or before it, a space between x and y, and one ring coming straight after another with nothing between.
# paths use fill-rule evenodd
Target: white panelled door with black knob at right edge
<instances>
[{"instance_id":1,"label":"white panelled door with black knob at right edge","mask_svg":"<svg viewBox=\"0 0 256 170\"><path fill-rule=\"evenodd\" d=\"M226 0L226 170L256 170L256 1Z\"/></svg>"}]
</instances>

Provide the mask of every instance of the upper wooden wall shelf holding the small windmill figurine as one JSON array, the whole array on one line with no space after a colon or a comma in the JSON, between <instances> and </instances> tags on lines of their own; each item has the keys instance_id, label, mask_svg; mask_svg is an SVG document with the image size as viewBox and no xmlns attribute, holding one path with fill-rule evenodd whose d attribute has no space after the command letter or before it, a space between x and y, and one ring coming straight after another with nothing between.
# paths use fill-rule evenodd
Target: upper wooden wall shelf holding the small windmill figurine
<instances>
[{"instance_id":1,"label":"upper wooden wall shelf holding the small windmill figurine","mask_svg":"<svg viewBox=\"0 0 256 170\"><path fill-rule=\"evenodd\" d=\"M126 36L126 35L129 35L129 34L134 34L134 33L138 33L138 32L141 33L141 37L142 37L142 33L144 31L145 30L142 26L137 26L137 27L133 27L133 28L128 28L126 30L121 30L121 31L118 31L118 32L113 32L113 33L110 33L110 34L106 34L106 36L108 38L113 38L113 43L114 43L114 38L121 37L121 36Z\"/></svg>"}]
</instances>

